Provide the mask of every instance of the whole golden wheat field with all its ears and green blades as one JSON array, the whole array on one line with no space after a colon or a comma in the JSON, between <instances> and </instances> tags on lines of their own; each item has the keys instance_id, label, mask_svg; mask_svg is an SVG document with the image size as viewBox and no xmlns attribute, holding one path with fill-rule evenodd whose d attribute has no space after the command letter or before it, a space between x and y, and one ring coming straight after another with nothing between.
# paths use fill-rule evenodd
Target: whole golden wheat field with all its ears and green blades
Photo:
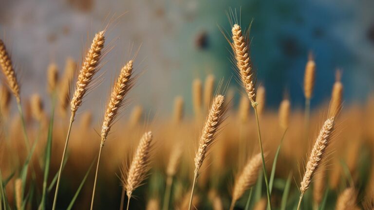
<instances>
[{"instance_id":1,"label":"whole golden wheat field with all its ears and green blades","mask_svg":"<svg viewBox=\"0 0 374 210\"><path fill-rule=\"evenodd\" d=\"M331 100L310 109L313 88L326 85L315 81L310 55L300 78L305 108L284 97L279 110L268 109L250 37L237 22L224 33L237 80L191 81L190 115L182 97L158 117L130 103L141 76L136 52L115 70L112 87L98 86L107 28L92 36L83 60L67 59L60 76L48 67L46 101L20 96L27 87L0 41L0 210L374 210L374 97L344 105L337 71ZM242 88L232 88L237 82ZM79 111L96 86L111 88L100 119L92 113L101 110ZM121 116L124 109L131 114Z\"/></svg>"}]
</instances>

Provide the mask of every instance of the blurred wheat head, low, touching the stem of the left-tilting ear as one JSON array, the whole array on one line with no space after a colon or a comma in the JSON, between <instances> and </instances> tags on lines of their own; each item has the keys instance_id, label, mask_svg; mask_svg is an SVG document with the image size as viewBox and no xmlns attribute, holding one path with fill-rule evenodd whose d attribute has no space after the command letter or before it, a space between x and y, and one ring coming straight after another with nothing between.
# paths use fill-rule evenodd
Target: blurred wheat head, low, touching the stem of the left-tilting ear
<instances>
[{"instance_id":1,"label":"blurred wheat head, low, touching the stem of the left-tilting ear","mask_svg":"<svg viewBox=\"0 0 374 210\"><path fill-rule=\"evenodd\" d=\"M235 204L239 198L242 197L243 193L256 183L257 177L259 175L259 170L262 166L261 153L252 157L245 165L242 173L236 178L234 189L232 193L232 203L231 206Z\"/></svg>"}]
</instances>

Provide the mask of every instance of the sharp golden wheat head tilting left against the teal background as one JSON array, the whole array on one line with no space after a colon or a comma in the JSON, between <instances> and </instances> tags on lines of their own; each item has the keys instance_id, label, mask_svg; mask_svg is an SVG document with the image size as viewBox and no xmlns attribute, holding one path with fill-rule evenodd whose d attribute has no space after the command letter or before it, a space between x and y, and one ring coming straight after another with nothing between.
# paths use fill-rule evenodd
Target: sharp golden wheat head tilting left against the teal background
<instances>
[{"instance_id":1,"label":"sharp golden wheat head tilting left against the teal background","mask_svg":"<svg viewBox=\"0 0 374 210\"><path fill-rule=\"evenodd\" d=\"M242 28L235 24L232 27L232 41L231 47L234 52L236 60L236 67L239 70L240 77L243 82L245 91L248 94L248 99L252 104L256 102L256 90L254 85L254 76L252 70L251 57L249 55L249 46L246 38L242 34Z\"/></svg>"}]
</instances>

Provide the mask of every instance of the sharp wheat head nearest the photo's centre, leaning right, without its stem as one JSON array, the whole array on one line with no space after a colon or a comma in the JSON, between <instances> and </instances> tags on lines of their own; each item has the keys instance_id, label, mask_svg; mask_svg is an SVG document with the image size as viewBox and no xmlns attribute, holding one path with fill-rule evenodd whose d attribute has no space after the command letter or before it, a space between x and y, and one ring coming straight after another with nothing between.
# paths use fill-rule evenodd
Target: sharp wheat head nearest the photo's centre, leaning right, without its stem
<instances>
[{"instance_id":1,"label":"sharp wheat head nearest the photo's centre, leaning right, without its stem","mask_svg":"<svg viewBox=\"0 0 374 210\"><path fill-rule=\"evenodd\" d=\"M201 165L206 157L206 153L212 146L215 133L218 130L218 126L222 123L224 115L224 96L218 95L209 110L208 116L206 118L206 123L203 128L203 133L199 141L199 149L197 150L195 156L195 175L198 174Z\"/></svg>"}]
</instances>

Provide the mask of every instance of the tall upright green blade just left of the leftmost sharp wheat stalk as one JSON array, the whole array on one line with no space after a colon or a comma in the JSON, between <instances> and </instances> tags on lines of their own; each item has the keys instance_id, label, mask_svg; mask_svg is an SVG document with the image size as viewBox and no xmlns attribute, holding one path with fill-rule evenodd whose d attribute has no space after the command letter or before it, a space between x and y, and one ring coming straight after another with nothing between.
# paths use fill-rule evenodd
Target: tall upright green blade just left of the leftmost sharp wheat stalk
<instances>
[{"instance_id":1,"label":"tall upright green blade just left of the leftmost sharp wheat stalk","mask_svg":"<svg viewBox=\"0 0 374 210\"><path fill-rule=\"evenodd\" d=\"M45 145L45 157L44 157L44 178L43 178L43 193L41 195L41 202L39 205L39 210L45 210L45 202L47 199L47 180L49 175L49 165L51 162L52 153L52 137L53 137L53 122L55 118L55 100L52 99L52 111L51 119L49 121L47 144Z\"/></svg>"}]
</instances>

